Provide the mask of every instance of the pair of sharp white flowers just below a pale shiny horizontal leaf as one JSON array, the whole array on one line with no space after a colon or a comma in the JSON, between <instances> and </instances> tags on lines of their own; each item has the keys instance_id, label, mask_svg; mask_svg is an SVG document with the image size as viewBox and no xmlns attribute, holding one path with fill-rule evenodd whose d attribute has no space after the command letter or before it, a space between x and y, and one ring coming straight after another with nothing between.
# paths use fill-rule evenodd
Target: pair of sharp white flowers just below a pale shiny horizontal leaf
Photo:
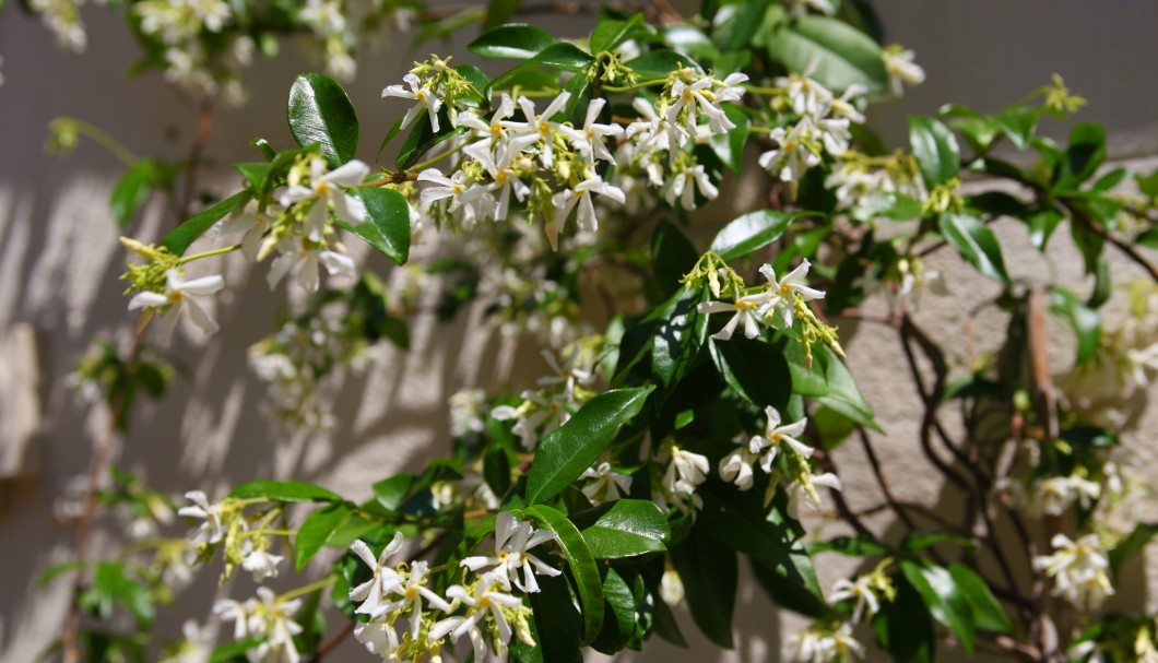
<instances>
[{"instance_id":1,"label":"pair of sharp white flowers just below a pale shiny horizontal leaf","mask_svg":"<svg viewBox=\"0 0 1158 663\"><path fill-rule=\"evenodd\" d=\"M696 307L702 314L732 312L732 319L724 329L712 334L712 338L728 340L735 329L743 324L743 336L756 338L760 336L761 324L770 325L775 314L779 312L785 327L791 327L794 319L797 300L812 301L823 299L824 293L804 285L804 278L808 275L811 263L804 260L797 268L792 270L783 279L776 278L776 272L771 265L764 265L760 273L768 280L768 285L754 294L735 297L734 302L704 302Z\"/></svg>"}]
</instances>

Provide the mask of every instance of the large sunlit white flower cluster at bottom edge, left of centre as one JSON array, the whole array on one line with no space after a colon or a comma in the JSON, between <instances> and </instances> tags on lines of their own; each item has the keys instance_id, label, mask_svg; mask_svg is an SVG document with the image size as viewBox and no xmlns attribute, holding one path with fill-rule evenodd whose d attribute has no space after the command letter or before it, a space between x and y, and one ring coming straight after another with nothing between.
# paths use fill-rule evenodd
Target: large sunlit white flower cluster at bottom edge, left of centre
<instances>
[{"instance_id":1,"label":"large sunlit white flower cluster at bottom edge, left of centre","mask_svg":"<svg viewBox=\"0 0 1158 663\"><path fill-rule=\"evenodd\" d=\"M478 575L447 588L445 597L426 587L426 562L387 566L389 558L402 548L401 533L395 535L378 559L369 546L354 542L351 551L371 568L371 579L350 590L350 599L360 603L356 612L369 617L358 624L354 636L383 661L425 656L437 660L444 647L453 648L463 635L470 640L475 661L485 661L489 649L496 660L505 661L515 634L534 644L530 609L512 591L515 588L523 594L537 592L536 575L562 573L529 552L554 539L554 532L536 530L510 511L499 513L494 523L494 554L463 559L461 566ZM435 619L435 612L442 613L440 619ZM403 616L410 628L400 636L395 624Z\"/></svg>"}]
</instances>

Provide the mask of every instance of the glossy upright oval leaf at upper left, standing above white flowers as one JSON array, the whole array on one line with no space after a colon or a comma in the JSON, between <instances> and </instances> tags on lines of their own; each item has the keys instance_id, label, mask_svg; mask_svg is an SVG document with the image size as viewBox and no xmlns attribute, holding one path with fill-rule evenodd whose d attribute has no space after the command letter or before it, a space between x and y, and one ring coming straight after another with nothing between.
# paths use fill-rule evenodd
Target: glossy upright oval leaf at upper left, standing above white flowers
<instances>
[{"instance_id":1,"label":"glossy upright oval leaf at upper left, standing above white flowers","mask_svg":"<svg viewBox=\"0 0 1158 663\"><path fill-rule=\"evenodd\" d=\"M298 76L290 89L286 117L298 145L316 142L330 168L346 163L358 152L358 113L346 90L329 76Z\"/></svg>"}]
</instances>

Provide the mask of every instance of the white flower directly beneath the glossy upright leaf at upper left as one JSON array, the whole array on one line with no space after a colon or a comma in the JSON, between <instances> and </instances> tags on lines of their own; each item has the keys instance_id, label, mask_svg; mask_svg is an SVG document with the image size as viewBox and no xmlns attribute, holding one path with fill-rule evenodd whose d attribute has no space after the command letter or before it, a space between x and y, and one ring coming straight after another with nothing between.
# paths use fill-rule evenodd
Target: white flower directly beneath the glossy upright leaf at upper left
<instances>
[{"instance_id":1,"label":"white flower directly beneath the glossy upright leaf at upper left","mask_svg":"<svg viewBox=\"0 0 1158 663\"><path fill-rule=\"evenodd\" d=\"M288 189L279 199L283 207L294 202L316 200L306 213L306 237L312 242L322 242L332 207L338 219L350 223L361 223L366 220L366 206L361 199L346 193L339 186L353 186L369 175L369 167L353 160L327 172L325 161L314 157L309 162L309 186L301 184L299 171L291 170Z\"/></svg>"}]
</instances>

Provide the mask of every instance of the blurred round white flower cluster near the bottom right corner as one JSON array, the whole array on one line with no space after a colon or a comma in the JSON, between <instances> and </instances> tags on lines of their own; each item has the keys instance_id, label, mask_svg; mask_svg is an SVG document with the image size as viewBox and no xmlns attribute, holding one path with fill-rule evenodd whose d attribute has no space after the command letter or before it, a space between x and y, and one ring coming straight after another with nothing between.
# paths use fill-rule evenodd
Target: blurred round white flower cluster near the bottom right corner
<instances>
[{"instance_id":1,"label":"blurred round white flower cluster near the bottom right corner","mask_svg":"<svg viewBox=\"0 0 1158 663\"><path fill-rule=\"evenodd\" d=\"M1078 610L1091 611L1101 606L1114 594L1109 582L1109 546L1098 535L1086 535L1071 540L1065 535L1054 535L1049 540L1054 554L1034 558L1033 568L1043 570L1054 581L1054 596L1061 596Z\"/></svg>"}]
</instances>

